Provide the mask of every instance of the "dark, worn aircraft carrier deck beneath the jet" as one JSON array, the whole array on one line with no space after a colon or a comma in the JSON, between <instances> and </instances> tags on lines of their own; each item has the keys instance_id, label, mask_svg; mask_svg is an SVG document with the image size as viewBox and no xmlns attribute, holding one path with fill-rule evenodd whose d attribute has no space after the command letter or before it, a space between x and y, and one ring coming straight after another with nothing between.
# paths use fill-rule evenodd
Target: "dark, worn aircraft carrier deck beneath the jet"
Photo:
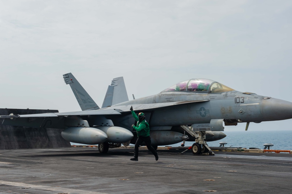
<instances>
[{"instance_id":1,"label":"dark, worn aircraft carrier deck beneath the jet","mask_svg":"<svg viewBox=\"0 0 292 194\"><path fill-rule=\"evenodd\" d=\"M95 147L0 150L0 193L291 193L292 154Z\"/></svg>"}]
</instances>

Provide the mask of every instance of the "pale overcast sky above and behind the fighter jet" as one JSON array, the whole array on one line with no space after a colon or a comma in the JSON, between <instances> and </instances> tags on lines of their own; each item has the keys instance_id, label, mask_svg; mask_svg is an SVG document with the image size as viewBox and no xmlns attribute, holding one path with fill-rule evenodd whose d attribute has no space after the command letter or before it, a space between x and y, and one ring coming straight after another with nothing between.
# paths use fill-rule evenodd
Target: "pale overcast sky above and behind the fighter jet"
<instances>
[{"instance_id":1,"label":"pale overcast sky above and behind the fighter jet","mask_svg":"<svg viewBox=\"0 0 292 194\"><path fill-rule=\"evenodd\" d=\"M80 110L71 72L101 106L207 78L292 101L292 1L1 1L0 108ZM291 130L292 119L249 130ZM245 124L225 127L244 130Z\"/></svg>"}]
</instances>

